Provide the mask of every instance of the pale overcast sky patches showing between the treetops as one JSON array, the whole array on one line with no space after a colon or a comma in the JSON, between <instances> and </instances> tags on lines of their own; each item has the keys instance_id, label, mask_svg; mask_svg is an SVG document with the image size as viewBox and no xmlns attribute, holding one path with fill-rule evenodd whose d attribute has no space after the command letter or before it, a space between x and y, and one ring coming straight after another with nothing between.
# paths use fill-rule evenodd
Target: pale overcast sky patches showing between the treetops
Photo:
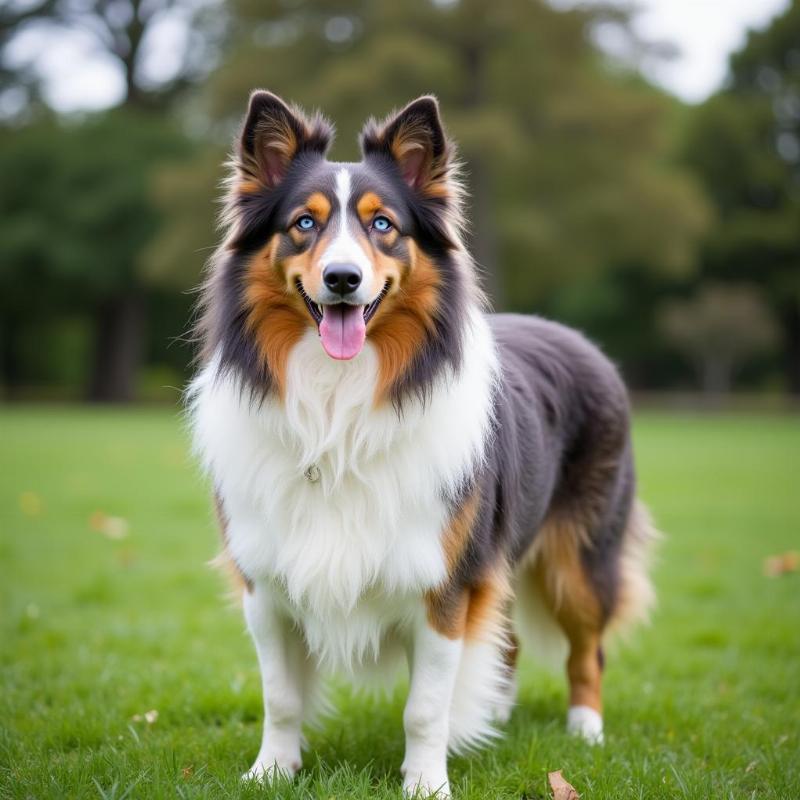
<instances>
[{"instance_id":1,"label":"pale overcast sky patches showing between the treetops","mask_svg":"<svg viewBox=\"0 0 800 800\"><path fill-rule=\"evenodd\" d=\"M640 12L634 28L646 41L669 42L678 55L650 60L643 71L657 84L688 102L699 102L723 82L730 53L744 42L749 28L761 28L784 11L790 0L635 0ZM581 0L551 0L570 7ZM175 45L182 37L180 19L165 17L149 42L147 71L169 75L176 69ZM614 48L613 39L606 42ZM117 102L122 76L112 59L102 58L88 34L58 36L30 31L9 48L8 57L35 56L46 76L46 95L58 110L97 109Z\"/></svg>"}]
</instances>

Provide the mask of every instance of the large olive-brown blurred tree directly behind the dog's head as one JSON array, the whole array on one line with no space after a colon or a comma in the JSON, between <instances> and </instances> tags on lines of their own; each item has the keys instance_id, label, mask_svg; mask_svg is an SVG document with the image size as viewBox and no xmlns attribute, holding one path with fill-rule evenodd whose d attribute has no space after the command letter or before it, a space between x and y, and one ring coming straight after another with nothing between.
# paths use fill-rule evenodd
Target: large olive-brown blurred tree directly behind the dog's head
<instances>
[{"instance_id":1,"label":"large olive-brown blurred tree directly behind the dog's head","mask_svg":"<svg viewBox=\"0 0 800 800\"><path fill-rule=\"evenodd\" d=\"M600 12L531 0L232 0L229 13L227 56L204 93L223 140L256 86L321 108L339 127L334 156L351 159L365 117L438 95L497 306L530 310L619 261L691 268L707 209L667 162L673 103L610 69L589 38ZM184 177L187 198L202 192Z\"/></svg>"}]
</instances>

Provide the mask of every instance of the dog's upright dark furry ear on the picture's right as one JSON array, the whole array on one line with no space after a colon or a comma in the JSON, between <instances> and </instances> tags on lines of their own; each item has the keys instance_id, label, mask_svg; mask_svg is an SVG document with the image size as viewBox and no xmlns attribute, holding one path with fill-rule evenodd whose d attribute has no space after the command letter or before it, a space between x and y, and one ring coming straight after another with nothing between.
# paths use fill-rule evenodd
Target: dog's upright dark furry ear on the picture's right
<instances>
[{"instance_id":1,"label":"dog's upright dark furry ear on the picture's right","mask_svg":"<svg viewBox=\"0 0 800 800\"><path fill-rule=\"evenodd\" d=\"M382 155L395 162L403 180L427 196L442 196L452 157L435 97L419 97L383 122L371 119L361 132L364 156Z\"/></svg>"}]
</instances>

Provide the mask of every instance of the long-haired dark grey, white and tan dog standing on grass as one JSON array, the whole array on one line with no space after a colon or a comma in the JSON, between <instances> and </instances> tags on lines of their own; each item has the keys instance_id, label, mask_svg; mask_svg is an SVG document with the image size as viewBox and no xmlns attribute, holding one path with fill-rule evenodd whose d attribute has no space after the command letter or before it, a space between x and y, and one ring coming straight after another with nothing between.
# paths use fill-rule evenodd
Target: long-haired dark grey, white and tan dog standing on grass
<instances>
[{"instance_id":1,"label":"long-haired dark grey, white and tan dog standing on grass","mask_svg":"<svg viewBox=\"0 0 800 800\"><path fill-rule=\"evenodd\" d=\"M326 676L407 659L407 793L498 734L517 633L566 643L568 730L603 738L602 642L643 617L654 530L625 387L579 333L484 311L437 101L369 120L358 163L266 91L231 163L198 315L193 440L264 692L248 779L293 776Z\"/></svg>"}]
</instances>

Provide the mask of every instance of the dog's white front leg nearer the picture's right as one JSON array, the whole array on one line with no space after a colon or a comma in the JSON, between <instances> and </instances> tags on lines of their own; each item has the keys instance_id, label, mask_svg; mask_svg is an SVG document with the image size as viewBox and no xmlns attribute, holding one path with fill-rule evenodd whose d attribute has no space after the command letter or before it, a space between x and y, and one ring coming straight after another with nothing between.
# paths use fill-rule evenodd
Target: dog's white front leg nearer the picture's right
<instances>
[{"instance_id":1,"label":"dog's white front leg nearer the picture's right","mask_svg":"<svg viewBox=\"0 0 800 800\"><path fill-rule=\"evenodd\" d=\"M403 725L406 755L403 788L409 795L450 797L447 741L450 704L461 661L463 642L437 633L422 619L411 642L411 688Z\"/></svg>"}]
</instances>

